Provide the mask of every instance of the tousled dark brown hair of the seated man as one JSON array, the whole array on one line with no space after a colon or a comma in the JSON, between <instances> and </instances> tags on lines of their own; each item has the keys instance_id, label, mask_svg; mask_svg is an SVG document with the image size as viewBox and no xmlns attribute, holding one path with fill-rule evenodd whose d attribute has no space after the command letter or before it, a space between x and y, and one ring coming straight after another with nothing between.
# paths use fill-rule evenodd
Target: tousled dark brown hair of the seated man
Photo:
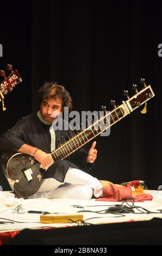
<instances>
[{"instance_id":1,"label":"tousled dark brown hair of the seated man","mask_svg":"<svg viewBox=\"0 0 162 256\"><path fill-rule=\"evenodd\" d=\"M61 97L63 99L62 107L68 107L69 111L71 111L72 99L64 86L57 84L57 82L45 82L38 91L39 104L41 104L42 100L48 99L50 97L53 99Z\"/></svg>"}]
</instances>

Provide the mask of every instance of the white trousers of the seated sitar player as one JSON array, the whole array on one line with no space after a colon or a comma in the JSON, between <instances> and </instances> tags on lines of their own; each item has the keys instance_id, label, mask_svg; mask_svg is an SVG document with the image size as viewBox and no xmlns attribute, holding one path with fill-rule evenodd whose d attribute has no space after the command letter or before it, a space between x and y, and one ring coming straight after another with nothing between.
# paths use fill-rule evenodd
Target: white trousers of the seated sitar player
<instances>
[{"instance_id":1,"label":"white trousers of the seated sitar player","mask_svg":"<svg viewBox=\"0 0 162 256\"><path fill-rule=\"evenodd\" d=\"M37 193L30 198L71 198L89 200L92 195L102 197L102 184L99 180L75 168L68 168L64 182L54 178L43 180Z\"/></svg>"}]
</instances>

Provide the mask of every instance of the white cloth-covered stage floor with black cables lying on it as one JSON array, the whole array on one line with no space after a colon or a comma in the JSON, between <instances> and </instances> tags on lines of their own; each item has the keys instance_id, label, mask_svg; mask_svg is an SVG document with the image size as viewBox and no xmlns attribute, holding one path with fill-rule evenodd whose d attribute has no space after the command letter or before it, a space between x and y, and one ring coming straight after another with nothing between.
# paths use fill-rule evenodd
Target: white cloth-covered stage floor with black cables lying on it
<instances>
[{"instance_id":1,"label":"white cloth-covered stage floor with black cables lying on it","mask_svg":"<svg viewBox=\"0 0 162 256\"><path fill-rule=\"evenodd\" d=\"M28 213L28 211L47 211L53 215L75 215L83 214L83 220L88 224L105 224L119 222L146 221L152 218L162 218L162 191L147 190L146 193L152 194L153 200L145 202L136 202L135 206L140 206L139 209L134 209L135 213L111 214L107 212L108 208L113 205L120 205L121 202L99 202L95 199L91 200L74 200L74 199L23 199L15 198L13 193L4 191L0 192L0 233L7 231L38 228L59 228L73 227L78 223L40 223L41 214ZM132 205L131 202L128 203ZM127 205L127 203L124 203ZM18 206L18 207L17 207ZM128 205L127 205L128 206ZM12 208L17 208L20 213L14 212ZM155 212L148 214L145 210ZM24 213L21 213L23 209ZM161 214L160 211L161 210ZM87 212L86 212L87 211ZM141 213L146 212L146 213ZM80 223L79 225L83 225ZM0 234L1 235L1 234Z\"/></svg>"}]
</instances>

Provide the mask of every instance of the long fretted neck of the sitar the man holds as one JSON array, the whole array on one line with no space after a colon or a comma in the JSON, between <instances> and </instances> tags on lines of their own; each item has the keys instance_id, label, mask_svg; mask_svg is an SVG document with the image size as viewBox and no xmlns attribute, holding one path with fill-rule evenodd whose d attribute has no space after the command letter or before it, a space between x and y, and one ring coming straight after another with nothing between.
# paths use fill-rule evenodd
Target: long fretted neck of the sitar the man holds
<instances>
[{"instance_id":1,"label":"long fretted neck of the sitar the man holds","mask_svg":"<svg viewBox=\"0 0 162 256\"><path fill-rule=\"evenodd\" d=\"M52 151L51 156L53 161L55 162L58 159L65 159L67 156L70 156L74 151L83 147L86 143L90 142L91 139L94 139L105 130L110 129L112 125L146 103L146 101L153 96L154 93L151 86L147 86L129 100L123 101L120 106L115 107L112 111L105 112L103 117L97 119L94 123L89 125L88 128L78 132L77 135L74 135L71 139Z\"/></svg>"}]
</instances>

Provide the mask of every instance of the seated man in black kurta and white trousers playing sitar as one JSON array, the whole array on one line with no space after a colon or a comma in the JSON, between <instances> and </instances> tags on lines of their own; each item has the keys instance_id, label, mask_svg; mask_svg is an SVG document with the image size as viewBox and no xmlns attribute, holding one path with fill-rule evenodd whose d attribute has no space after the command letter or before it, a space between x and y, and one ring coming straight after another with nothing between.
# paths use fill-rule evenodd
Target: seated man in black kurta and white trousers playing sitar
<instances>
[{"instance_id":1,"label":"seated man in black kurta and white trousers playing sitar","mask_svg":"<svg viewBox=\"0 0 162 256\"><path fill-rule=\"evenodd\" d=\"M53 121L64 107L72 109L72 99L67 90L57 83L46 82L38 93L40 110L18 120L0 138L0 151L21 152L33 155L45 169L52 162L48 154L59 142L67 138L67 131L53 129ZM63 122L65 120L63 119ZM43 175L43 182L32 198L73 198L89 200L102 196L102 184L83 170L93 167L97 157L96 142L87 152L83 148L75 151L66 160L55 161Z\"/></svg>"}]
</instances>

